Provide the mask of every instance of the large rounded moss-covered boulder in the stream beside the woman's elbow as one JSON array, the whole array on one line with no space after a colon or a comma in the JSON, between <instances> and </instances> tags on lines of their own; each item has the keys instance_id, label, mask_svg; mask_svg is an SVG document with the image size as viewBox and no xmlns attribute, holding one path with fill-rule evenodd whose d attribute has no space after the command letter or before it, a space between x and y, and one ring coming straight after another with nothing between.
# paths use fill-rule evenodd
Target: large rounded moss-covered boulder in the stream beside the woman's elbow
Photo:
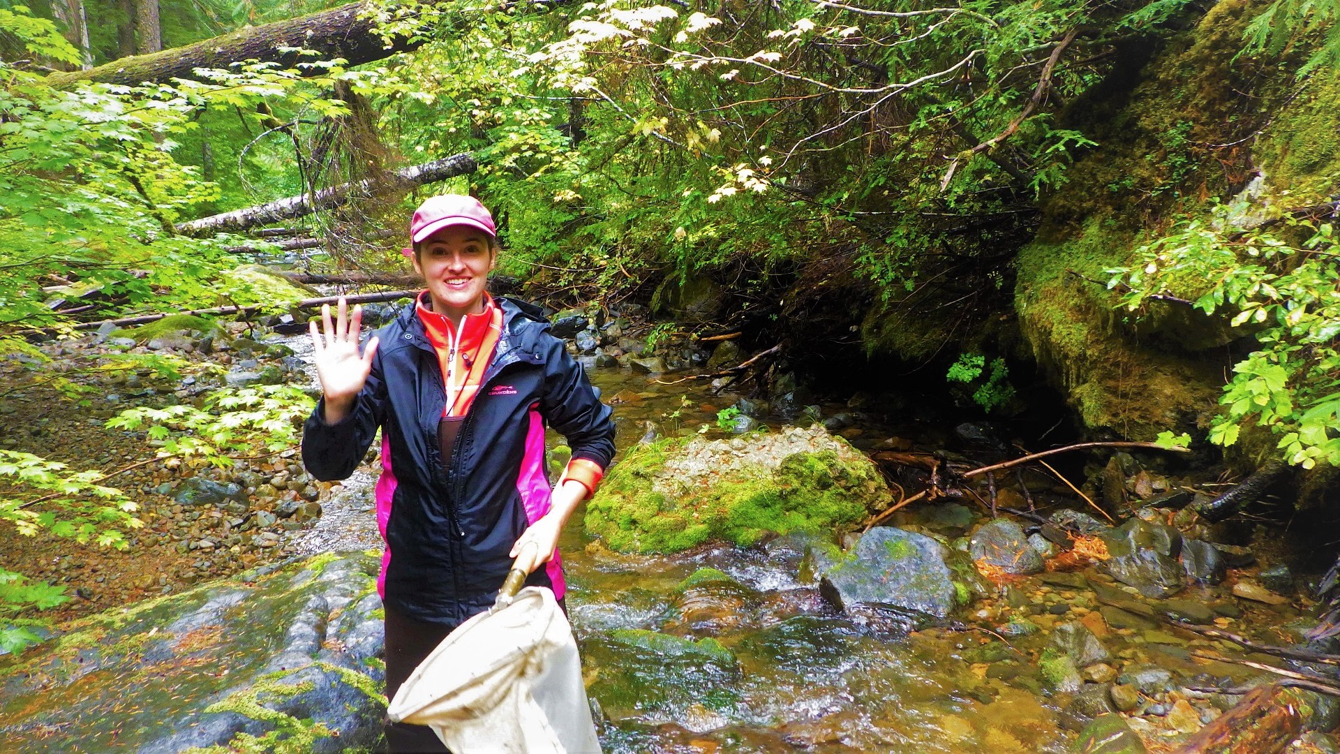
<instances>
[{"instance_id":1,"label":"large rounded moss-covered boulder in the stream beside the woman's elbow","mask_svg":"<svg viewBox=\"0 0 1340 754\"><path fill-rule=\"evenodd\" d=\"M674 553L708 541L842 530L890 503L879 470L821 427L730 440L665 440L630 451L587 506L614 550Z\"/></svg>"}]
</instances>

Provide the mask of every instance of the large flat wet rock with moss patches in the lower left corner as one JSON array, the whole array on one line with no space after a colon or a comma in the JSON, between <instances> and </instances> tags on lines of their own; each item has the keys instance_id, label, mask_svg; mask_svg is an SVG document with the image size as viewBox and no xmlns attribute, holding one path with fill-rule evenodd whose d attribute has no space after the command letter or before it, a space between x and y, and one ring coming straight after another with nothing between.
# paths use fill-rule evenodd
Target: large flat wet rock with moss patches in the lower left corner
<instances>
[{"instance_id":1,"label":"large flat wet rock with moss patches in the lower left corner","mask_svg":"<svg viewBox=\"0 0 1340 754\"><path fill-rule=\"evenodd\" d=\"M239 734L261 750L371 747L385 714L377 568L320 555L78 621L0 661L5 751L51 751L54 730L71 751L168 754Z\"/></svg>"}]
</instances>

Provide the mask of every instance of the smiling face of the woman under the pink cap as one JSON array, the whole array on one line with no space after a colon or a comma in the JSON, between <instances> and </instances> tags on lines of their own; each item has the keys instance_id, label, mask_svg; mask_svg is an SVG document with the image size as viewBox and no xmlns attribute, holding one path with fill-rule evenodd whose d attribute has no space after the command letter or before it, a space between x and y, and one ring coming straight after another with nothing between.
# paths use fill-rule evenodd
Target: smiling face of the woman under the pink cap
<instances>
[{"instance_id":1,"label":"smiling face of the woman under the pink cap","mask_svg":"<svg viewBox=\"0 0 1340 754\"><path fill-rule=\"evenodd\" d=\"M448 225L419 244L414 271L423 276L433 311L458 319L484 306L484 283L497 262L489 236L469 225Z\"/></svg>"}]
</instances>

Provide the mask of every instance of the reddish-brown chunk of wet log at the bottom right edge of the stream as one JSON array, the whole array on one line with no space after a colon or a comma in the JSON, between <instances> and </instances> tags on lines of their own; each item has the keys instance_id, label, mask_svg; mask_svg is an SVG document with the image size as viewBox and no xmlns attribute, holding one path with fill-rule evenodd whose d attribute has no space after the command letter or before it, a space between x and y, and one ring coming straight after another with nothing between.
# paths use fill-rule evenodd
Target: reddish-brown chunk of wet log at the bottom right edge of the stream
<instances>
[{"instance_id":1,"label":"reddish-brown chunk of wet log at the bottom right edge of the stream","mask_svg":"<svg viewBox=\"0 0 1340 754\"><path fill-rule=\"evenodd\" d=\"M1312 708L1302 694L1273 683L1258 686L1175 754L1280 754L1302 733L1302 708Z\"/></svg>"}]
</instances>

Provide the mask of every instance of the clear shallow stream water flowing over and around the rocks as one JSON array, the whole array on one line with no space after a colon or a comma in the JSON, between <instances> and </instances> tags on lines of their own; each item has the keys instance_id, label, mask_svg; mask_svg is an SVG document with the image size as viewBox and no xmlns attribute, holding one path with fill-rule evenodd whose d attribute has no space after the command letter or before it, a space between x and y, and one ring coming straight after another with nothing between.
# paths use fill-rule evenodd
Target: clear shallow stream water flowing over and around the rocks
<instances>
[{"instance_id":1,"label":"clear shallow stream water flowing over and around the rocks","mask_svg":"<svg viewBox=\"0 0 1340 754\"><path fill-rule=\"evenodd\" d=\"M592 381L615 408L620 452L655 433L725 436L716 412L737 400L710 394L704 381L618 369L596 369ZM934 428L896 429L930 447L942 440ZM892 435L882 427L862 431L864 440ZM563 443L552 432L549 441ZM371 480L363 475L347 482L295 549L377 541ZM978 514L950 507L913 508L900 523L962 537ZM582 510L572 517L560 543L567 604L602 741L612 754L1064 751L1073 739L1061 726L1071 696L1044 690L1037 657L1049 629L1068 621L1093 625L1120 657L1115 665L1154 663L1187 678L1210 672L1245 679L1241 667L1191 657L1189 649L1207 644L1152 625L1091 620L1101 605L1083 586L1017 578L974 602L965 616L970 625L909 631L900 616L847 614L829 606L801 576L803 538L753 549L620 554L586 535L582 517ZM681 588L701 568L733 581ZM1104 578L1092 569L1084 573ZM1189 597L1210 604L1219 594ZM1041 631L1006 639L993 628L1009 614L1028 616ZM1256 620L1278 625L1290 617ZM1132 718L1132 724L1139 722ZM1143 733L1156 735L1152 729Z\"/></svg>"}]
</instances>

